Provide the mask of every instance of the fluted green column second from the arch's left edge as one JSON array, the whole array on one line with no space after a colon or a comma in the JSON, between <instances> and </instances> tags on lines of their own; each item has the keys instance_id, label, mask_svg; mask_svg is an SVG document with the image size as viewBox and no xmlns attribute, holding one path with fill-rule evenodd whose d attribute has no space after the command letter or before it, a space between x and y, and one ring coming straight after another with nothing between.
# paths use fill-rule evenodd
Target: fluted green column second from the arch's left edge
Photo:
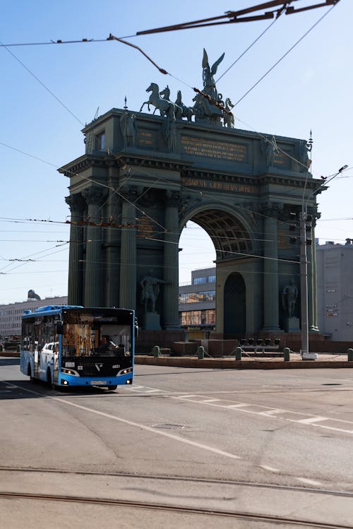
<instances>
[{"instance_id":1,"label":"fluted green column second from the arch's left edge","mask_svg":"<svg viewBox=\"0 0 353 529\"><path fill-rule=\"evenodd\" d=\"M84 305L100 307L102 305L102 228L97 224L101 218L102 199L107 191L98 186L91 186L82 194L88 204Z\"/></svg>"}]
</instances>

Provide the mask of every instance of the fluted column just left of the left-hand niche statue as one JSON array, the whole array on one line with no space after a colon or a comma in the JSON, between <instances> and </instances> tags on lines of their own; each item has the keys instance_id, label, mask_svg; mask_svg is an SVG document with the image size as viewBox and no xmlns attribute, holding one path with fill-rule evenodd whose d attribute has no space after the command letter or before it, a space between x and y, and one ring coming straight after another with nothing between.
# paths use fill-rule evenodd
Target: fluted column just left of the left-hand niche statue
<instances>
[{"instance_id":1,"label":"fluted column just left of the left-hand niche statue","mask_svg":"<svg viewBox=\"0 0 353 529\"><path fill-rule=\"evenodd\" d=\"M127 186L121 210L120 303L124 309L136 309L136 207L137 189Z\"/></svg>"}]
</instances>

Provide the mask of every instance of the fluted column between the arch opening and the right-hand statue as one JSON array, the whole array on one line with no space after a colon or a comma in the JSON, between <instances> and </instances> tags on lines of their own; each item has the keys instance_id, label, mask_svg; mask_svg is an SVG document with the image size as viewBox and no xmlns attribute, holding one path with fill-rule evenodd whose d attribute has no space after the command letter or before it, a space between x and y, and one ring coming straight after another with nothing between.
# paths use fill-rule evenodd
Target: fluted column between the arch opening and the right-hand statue
<instances>
[{"instance_id":1,"label":"fluted column between the arch opening and the right-hand statue","mask_svg":"<svg viewBox=\"0 0 353 529\"><path fill-rule=\"evenodd\" d=\"M269 203L263 210L263 331L280 332L278 312L277 212Z\"/></svg>"}]
</instances>

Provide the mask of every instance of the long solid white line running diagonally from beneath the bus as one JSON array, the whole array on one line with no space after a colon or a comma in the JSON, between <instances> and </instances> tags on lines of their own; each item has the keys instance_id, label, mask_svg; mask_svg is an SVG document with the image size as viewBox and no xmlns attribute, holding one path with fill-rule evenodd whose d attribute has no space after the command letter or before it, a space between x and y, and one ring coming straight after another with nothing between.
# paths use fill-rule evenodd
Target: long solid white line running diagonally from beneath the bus
<instances>
[{"instance_id":1,"label":"long solid white line running diagonally from beneath the bus","mask_svg":"<svg viewBox=\"0 0 353 529\"><path fill-rule=\"evenodd\" d=\"M32 391L27 388L20 388L20 386L16 386L15 384L10 384L10 386L12 386L13 388L17 388L22 391L27 391L28 393L32 393L34 395L43 397L42 393L37 393L37 391ZM110 415L109 413L100 412L98 410L93 410L92 408L87 408L87 406L82 406L77 403L71 403L69 400L65 400L64 398L51 397L49 395L44 396L44 398L55 400L56 402L66 404L68 406L72 406L73 408L78 408L79 410L84 410L86 412L90 412L95 415L100 415L100 417L106 417L107 419L111 419L116 422L122 422L123 424L128 424L128 426L133 426L133 427L145 430L145 432L150 432L155 435L161 435L164 437L168 437L169 439L173 439L174 441L178 441L179 443L189 444L190 446L193 446L195 448L201 448L202 450L216 453L217 456L225 456L230 459L241 459L240 456L236 456L234 453L225 452L223 450L220 450L219 448L213 448L213 446L208 446L206 444L197 443L196 441L191 441L190 439L184 439L183 437L179 437L174 434L168 434L167 432L162 432L150 426L145 426L145 424L140 424L139 422L129 421L129 420L123 419L122 417L117 417L116 415Z\"/></svg>"}]
</instances>

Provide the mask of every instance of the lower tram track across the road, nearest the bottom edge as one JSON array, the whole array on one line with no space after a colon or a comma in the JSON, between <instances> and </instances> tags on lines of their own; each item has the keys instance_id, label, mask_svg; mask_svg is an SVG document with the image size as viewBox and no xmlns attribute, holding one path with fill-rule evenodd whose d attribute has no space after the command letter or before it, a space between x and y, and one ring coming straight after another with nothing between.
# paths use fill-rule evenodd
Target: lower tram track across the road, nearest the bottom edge
<instances>
[{"instance_id":1,"label":"lower tram track across the road, nearest the bottom edge","mask_svg":"<svg viewBox=\"0 0 353 529\"><path fill-rule=\"evenodd\" d=\"M282 523L285 525L310 527L320 529L352 529L353 525L337 525L335 523L314 522L299 518L288 518L284 516L272 516L263 513L249 513L246 511L227 511L217 509L205 509L181 505L152 503L148 501L129 501L126 499L107 499L83 496L65 496L59 494L33 494L23 492L0 492L3 499L29 499L36 501L62 501L68 503L95 504L100 506L128 507L131 509L148 509L152 511L169 511L182 514L195 514L198 516L215 516L226 518L238 518L247 521L262 521L268 523Z\"/></svg>"}]
</instances>

